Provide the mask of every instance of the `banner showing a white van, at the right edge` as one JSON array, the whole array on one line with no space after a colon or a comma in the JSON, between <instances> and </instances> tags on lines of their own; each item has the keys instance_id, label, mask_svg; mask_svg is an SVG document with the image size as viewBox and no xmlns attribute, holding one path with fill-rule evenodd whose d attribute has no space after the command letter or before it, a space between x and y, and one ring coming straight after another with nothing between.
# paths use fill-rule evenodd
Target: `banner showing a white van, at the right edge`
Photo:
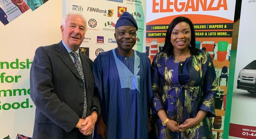
<instances>
[{"instance_id":1,"label":"banner showing a white van, at the right edge","mask_svg":"<svg viewBox=\"0 0 256 139\"><path fill-rule=\"evenodd\" d=\"M255 0L242 1L229 139L256 138L255 7Z\"/></svg>"}]
</instances>

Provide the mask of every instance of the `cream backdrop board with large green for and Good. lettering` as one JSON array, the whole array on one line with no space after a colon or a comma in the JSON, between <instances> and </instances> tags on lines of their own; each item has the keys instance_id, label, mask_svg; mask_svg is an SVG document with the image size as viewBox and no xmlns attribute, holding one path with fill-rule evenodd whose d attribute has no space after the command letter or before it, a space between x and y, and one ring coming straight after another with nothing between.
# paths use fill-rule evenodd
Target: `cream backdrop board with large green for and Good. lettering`
<instances>
[{"instance_id":1,"label":"cream backdrop board with large green for and Good. lettering","mask_svg":"<svg viewBox=\"0 0 256 139\"><path fill-rule=\"evenodd\" d=\"M61 15L62 0L49 0L6 26L0 23L0 139L7 135L15 139L17 134L32 137L35 105L29 97L31 62L36 48L61 40Z\"/></svg>"}]
</instances>

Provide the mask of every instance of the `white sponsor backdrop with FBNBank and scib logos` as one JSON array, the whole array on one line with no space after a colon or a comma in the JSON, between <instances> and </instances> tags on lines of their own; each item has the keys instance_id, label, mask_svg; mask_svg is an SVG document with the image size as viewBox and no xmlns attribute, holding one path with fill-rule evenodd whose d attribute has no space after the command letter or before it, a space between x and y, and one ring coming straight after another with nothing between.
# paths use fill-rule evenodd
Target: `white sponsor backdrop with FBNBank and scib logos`
<instances>
[{"instance_id":1,"label":"white sponsor backdrop with FBNBank and scib logos","mask_svg":"<svg viewBox=\"0 0 256 139\"><path fill-rule=\"evenodd\" d=\"M115 24L124 11L131 13L137 24L136 44L133 49L145 52L145 0L64 0L63 17L79 12L87 21L87 32L81 48L94 60L100 52L117 47L114 37Z\"/></svg>"}]
</instances>

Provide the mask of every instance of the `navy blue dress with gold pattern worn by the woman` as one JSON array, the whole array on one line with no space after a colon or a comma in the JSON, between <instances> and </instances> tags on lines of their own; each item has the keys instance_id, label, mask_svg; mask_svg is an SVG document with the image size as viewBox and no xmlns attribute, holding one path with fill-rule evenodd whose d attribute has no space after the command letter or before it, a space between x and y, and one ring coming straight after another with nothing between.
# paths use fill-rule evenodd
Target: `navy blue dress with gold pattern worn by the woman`
<instances>
[{"instance_id":1,"label":"navy blue dress with gold pattern worn by the woman","mask_svg":"<svg viewBox=\"0 0 256 139\"><path fill-rule=\"evenodd\" d=\"M151 65L153 90L152 122L157 139L210 139L212 125L210 117L215 116L215 96L217 93L216 74L212 59L208 52L198 50L192 55L188 66L189 80L179 81L179 60L159 52ZM182 85L183 82L184 84ZM184 131L172 132L162 125L157 115L164 109L169 119L182 124L188 118L194 118L199 110L207 112L201 123Z\"/></svg>"}]
</instances>

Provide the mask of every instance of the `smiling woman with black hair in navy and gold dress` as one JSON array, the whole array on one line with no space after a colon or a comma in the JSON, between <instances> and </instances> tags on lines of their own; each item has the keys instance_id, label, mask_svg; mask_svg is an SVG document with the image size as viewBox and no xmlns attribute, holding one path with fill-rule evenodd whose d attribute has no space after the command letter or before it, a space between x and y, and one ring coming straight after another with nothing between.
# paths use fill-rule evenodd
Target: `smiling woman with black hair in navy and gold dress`
<instances>
[{"instance_id":1,"label":"smiling woman with black hair in navy and gold dress","mask_svg":"<svg viewBox=\"0 0 256 139\"><path fill-rule=\"evenodd\" d=\"M190 19L176 17L151 66L152 123L157 139L210 139L216 74L208 52L195 48Z\"/></svg>"}]
</instances>

